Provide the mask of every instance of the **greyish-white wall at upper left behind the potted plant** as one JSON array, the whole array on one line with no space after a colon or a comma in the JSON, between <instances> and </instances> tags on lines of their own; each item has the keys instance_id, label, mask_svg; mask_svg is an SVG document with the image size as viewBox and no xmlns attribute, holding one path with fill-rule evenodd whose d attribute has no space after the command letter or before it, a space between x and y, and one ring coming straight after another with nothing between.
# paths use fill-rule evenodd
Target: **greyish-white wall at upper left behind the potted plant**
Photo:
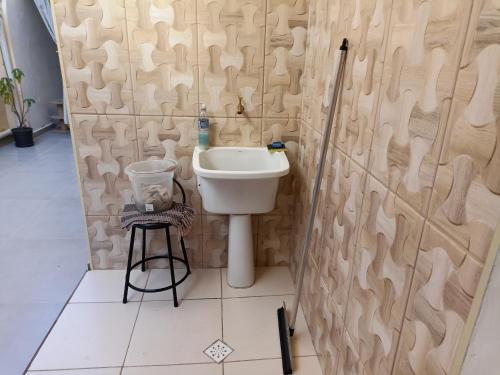
<instances>
[{"instance_id":1,"label":"greyish-white wall at upper left behind the potted plant","mask_svg":"<svg viewBox=\"0 0 500 375\"><path fill-rule=\"evenodd\" d=\"M37 103L29 116L34 130L49 124L56 108L51 102L61 100L62 81L57 46L38 14L32 0L3 0L13 63L26 75L24 95Z\"/></svg>"}]
</instances>

